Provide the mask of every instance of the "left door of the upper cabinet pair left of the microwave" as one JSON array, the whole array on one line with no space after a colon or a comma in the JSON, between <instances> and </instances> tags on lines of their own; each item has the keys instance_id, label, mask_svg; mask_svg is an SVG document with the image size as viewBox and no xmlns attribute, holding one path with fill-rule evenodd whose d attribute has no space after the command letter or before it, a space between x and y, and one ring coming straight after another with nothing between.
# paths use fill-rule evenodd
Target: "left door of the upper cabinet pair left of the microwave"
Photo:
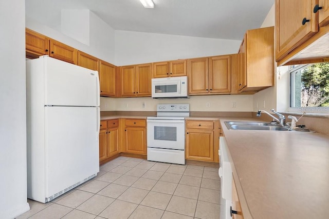
<instances>
[{"instance_id":1,"label":"left door of the upper cabinet pair left of the microwave","mask_svg":"<svg viewBox=\"0 0 329 219\"><path fill-rule=\"evenodd\" d=\"M136 96L135 66L121 67L121 96Z\"/></svg>"}]
</instances>

